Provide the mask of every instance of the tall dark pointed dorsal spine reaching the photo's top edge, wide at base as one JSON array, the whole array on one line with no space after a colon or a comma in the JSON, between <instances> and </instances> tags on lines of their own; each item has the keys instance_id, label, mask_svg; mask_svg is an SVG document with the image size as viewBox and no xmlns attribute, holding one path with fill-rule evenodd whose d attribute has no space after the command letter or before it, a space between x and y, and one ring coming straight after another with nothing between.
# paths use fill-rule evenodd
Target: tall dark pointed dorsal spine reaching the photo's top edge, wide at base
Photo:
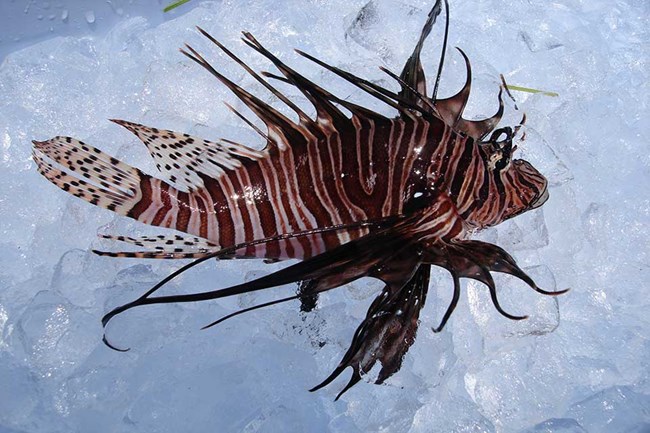
<instances>
[{"instance_id":1,"label":"tall dark pointed dorsal spine reaching the photo's top edge, wide at base","mask_svg":"<svg viewBox=\"0 0 650 433\"><path fill-rule=\"evenodd\" d=\"M422 53L422 47L424 46L424 41L431 33L433 25L436 23L436 19L442 11L442 0L437 0L436 4L433 6L429 12L427 22L422 28L420 33L420 39L413 49L411 57L408 58L402 73L400 74L400 79L404 82L402 84L402 90L399 92L399 95L410 104L419 105L422 108L426 108L422 100L414 93L414 90L420 93L421 95L427 94L427 81L422 69L422 62L420 61L420 54Z\"/></svg>"}]
</instances>

